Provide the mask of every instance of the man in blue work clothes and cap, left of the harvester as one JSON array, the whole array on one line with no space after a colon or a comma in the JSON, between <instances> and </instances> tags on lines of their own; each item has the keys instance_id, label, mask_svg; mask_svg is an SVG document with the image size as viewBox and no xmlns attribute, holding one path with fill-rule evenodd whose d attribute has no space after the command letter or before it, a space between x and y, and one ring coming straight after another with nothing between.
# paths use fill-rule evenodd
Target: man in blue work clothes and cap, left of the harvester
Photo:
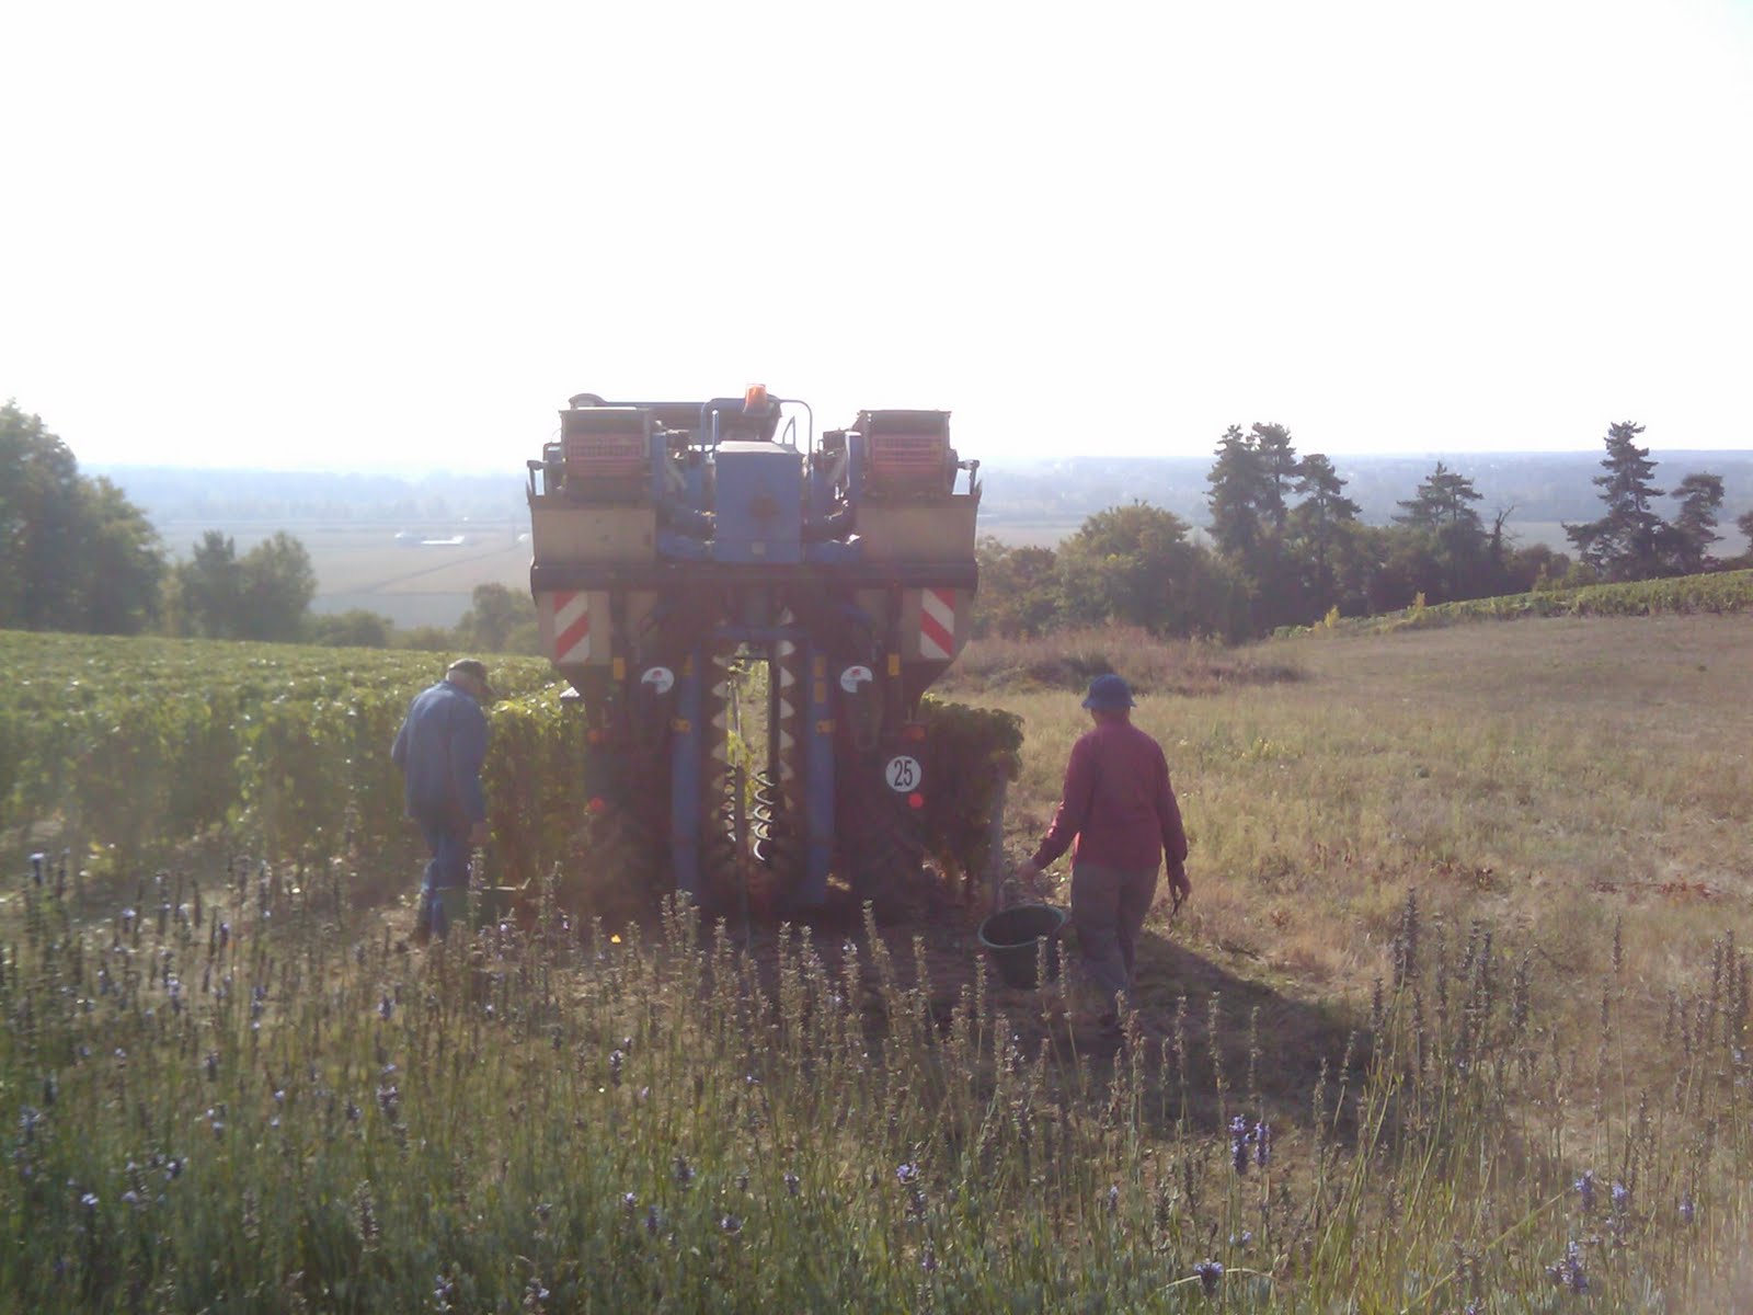
<instances>
[{"instance_id":1,"label":"man in blue work clothes and cap, left of the harvester","mask_svg":"<svg viewBox=\"0 0 1753 1315\"><path fill-rule=\"evenodd\" d=\"M444 680L414 696L389 750L401 768L407 814L421 824L433 854L414 919L414 940L421 943L463 920L468 857L487 843L487 800L480 791L487 717L480 705L491 700L487 668L473 658L458 659Z\"/></svg>"}]
</instances>

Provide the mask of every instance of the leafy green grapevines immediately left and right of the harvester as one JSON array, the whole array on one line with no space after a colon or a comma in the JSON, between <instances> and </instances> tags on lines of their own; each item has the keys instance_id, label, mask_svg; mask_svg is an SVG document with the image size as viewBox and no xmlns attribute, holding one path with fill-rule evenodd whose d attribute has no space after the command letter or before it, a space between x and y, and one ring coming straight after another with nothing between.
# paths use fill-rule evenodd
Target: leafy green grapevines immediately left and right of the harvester
<instances>
[{"instance_id":1,"label":"leafy green grapevines immediately left and right of the harvester","mask_svg":"<svg viewBox=\"0 0 1753 1315\"><path fill-rule=\"evenodd\" d=\"M221 831L273 861L417 847L389 745L442 675L435 654L0 631L0 661L19 673L0 686L0 829L58 822L82 861L114 868ZM500 659L493 679L486 880L515 885L577 856L584 726L545 661ZM931 698L920 719L927 850L980 871L1022 722Z\"/></svg>"}]
</instances>

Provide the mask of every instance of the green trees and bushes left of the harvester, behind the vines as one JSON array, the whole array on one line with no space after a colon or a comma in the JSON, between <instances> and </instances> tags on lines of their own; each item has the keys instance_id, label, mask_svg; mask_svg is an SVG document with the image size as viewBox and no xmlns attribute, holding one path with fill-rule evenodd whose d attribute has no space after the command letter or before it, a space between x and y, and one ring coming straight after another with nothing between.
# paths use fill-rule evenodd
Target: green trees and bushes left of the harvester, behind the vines
<instances>
[{"instance_id":1,"label":"green trees and bushes left of the harvester, behind the vines","mask_svg":"<svg viewBox=\"0 0 1753 1315\"><path fill-rule=\"evenodd\" d=\"M110 480L81 473L42 417L0 405L0 629L188 635L365 647L535 652L535 603L475 589L454 629L398 631L372 612L312 615L310 552L286 531L238 552L209 530L172 561L145 512Z\"/></svg>"}]
</instances>

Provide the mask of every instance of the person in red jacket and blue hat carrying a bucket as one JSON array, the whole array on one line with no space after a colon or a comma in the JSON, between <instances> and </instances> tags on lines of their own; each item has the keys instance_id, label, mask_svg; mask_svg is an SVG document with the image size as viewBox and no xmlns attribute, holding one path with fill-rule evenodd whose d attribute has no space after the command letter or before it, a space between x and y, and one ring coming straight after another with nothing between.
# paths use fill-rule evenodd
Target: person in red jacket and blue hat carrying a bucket
<instances>
[{"instance_id":1,"label":"person in red jacket and blue hat carrying a bucket","mask_svg":"<svg viewBox=\"0 0 1753 1315\"><path fill-rule=\"evenodd\" d=\"M1131 1005L1138 933L1164 856L1176 906L1192 884L1169 764L1162 747L1132 726L1132 691L1118 675L1099 675L1083 707L1096 726L1071 747L1059 812L1017 875L1036 877L1071 847L1071 926L1083 971L1111 1008L1117 996ZM1117 1026L1117 1015L1104 1013L1103 1027Z\"/></svg>"}]
</instances>

